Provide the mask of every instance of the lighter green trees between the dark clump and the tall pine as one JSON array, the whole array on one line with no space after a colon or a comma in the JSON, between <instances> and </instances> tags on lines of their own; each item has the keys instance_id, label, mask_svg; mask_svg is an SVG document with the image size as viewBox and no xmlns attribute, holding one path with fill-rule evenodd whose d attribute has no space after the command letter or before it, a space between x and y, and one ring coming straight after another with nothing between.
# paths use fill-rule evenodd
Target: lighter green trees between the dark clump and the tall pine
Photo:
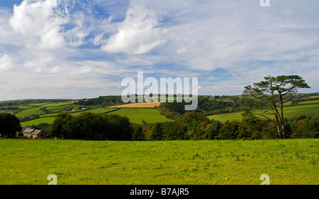
<instances>
[{"instance_id":1,"label":"lighter green trees between the dark clump and the tall pine","mask_svg":"<svg viewBox=\"0 0 319 199\"><path fill-rule=\"evenodd\" d=\"M174 122L134 124L133 140L274 139L276 129L251 119L209 120L199 112L186 112Z\"/></svg>"}]
</instances>

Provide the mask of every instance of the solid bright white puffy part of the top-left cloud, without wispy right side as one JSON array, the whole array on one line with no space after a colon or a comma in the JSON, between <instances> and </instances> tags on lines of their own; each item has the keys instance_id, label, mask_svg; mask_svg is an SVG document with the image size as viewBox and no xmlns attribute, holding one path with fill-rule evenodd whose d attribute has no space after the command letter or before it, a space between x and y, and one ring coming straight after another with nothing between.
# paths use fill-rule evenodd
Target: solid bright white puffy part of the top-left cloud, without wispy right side
<instances>
[{"instance_id":1,"label":"solid bright white puffy part of the top-left cloud, without wispy right side","mask_svg":"<svg viewBox=\"0 0 319 199\"><path fill-rule=\"evenodd\" d=\"M40 48L59 48L65 44L61 25L67 22L66 11L57 9L58 0L24 0L13 7L10 24L22 34L40 38Z\"/></svg>"}]
</instances>

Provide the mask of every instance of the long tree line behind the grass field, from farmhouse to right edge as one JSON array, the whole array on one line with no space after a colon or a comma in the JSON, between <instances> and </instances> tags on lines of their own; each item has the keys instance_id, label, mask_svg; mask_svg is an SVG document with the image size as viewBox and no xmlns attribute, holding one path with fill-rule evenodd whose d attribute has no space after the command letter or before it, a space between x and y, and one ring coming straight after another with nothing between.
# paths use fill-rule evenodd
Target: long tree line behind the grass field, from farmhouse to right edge
<instances>
[{"instance_id":1,"label":"long tree line behind the grass field, from farmhouse to right edge","mask_svg":"<svg viewBox=\"0 0 319 199\"><path fill-rule=\"evenodd\" d=\"M213 140L278 139L275 120L267 121L245 112L242 121L210 120L200 112L185 112L173 122L130 123L118 114L84 112L58 114L50 136L86 140ZM319 115L286 119L286 138L319 138Z\"/></svg>"}]
</instances>

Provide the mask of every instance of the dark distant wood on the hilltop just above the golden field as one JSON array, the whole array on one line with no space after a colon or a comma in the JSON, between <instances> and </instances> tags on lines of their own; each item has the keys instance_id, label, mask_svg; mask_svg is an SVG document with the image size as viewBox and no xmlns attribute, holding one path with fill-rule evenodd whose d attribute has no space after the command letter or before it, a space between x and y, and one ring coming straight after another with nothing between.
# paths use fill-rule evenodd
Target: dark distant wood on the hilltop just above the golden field
<instances>
[{"instance_id":1,"label":"dark distant wood on the hilltop just above the golden field","mask_svg":"<svg viewBox=\"0 0 319 199\"><path fill-rule=\"evenodd\" d=\"M80 104L84 106L110 106L112 104L122 104L121 96L100 96L98 98L92 99L81 99L78 102L74 102L74 104Z\"/></svg>"}]
</instances>

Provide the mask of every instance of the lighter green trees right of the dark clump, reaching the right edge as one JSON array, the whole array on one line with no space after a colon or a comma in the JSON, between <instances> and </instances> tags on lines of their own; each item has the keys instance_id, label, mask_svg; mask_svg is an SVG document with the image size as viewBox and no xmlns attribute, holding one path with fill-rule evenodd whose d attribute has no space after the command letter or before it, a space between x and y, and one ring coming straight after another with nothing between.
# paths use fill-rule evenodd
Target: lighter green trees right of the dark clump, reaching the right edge
<instances>
[{"instance_id":1,"label":"lighter green trees right of the dark clump, reaching the right edge","mask_svg":"<svg viewBox=\"0 0 319 199\"><path fill-rule=\"evenodd\" d=\"M133 140L278 139L275 121L245 113L242 121L224 123L186 112L177 121L133 124ZM319 138L319 117L286 120L286 138Z\"/></svg>"}]
</instances>

